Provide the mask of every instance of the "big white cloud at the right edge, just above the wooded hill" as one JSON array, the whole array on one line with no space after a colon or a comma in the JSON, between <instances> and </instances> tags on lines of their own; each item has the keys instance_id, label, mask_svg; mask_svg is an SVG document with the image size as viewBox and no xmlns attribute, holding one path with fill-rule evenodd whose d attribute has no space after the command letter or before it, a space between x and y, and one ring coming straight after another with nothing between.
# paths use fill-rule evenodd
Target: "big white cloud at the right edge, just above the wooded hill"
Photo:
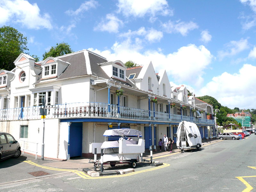
<instances>
[{"instance_id":1,"label":"big white cloud at the right edge, just above the wooded hill","mask_svg":"<svg viewBox=\"0 0 256 192\"><path fill-rule=\"evenodd\" d=\"M211 95L229 108L255 108L256 67L244 64L238 73L222 73L212 78L199 95ZM246 82L246 83L245 83Z\"/></svg>"}]
</instances>

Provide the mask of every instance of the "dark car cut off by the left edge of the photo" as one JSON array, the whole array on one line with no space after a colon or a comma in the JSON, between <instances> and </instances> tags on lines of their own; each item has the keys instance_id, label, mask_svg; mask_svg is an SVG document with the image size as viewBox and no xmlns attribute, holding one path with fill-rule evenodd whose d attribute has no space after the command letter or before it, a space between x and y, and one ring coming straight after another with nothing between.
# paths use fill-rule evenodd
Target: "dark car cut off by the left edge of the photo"
<instances>
[{"instance_id":1,"label":"dark car cut off by the left edge of the photo","mask_svg":"<svg viewBox=\"0 0 256 192\"><path fill-rule=\"evenodd\" d=\"M0 132L0 160L9 157L18 158L20 154L20 143L11 134Z\"/></svg>"}]
</instances>

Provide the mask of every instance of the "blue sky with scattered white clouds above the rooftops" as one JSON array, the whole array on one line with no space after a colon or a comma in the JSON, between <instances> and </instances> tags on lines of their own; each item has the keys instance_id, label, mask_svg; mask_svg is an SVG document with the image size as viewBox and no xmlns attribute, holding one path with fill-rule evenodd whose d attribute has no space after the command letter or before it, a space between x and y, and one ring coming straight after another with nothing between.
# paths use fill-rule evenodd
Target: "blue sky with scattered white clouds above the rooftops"
<instances>
[{"instance_id":1,"label":"blue sky with scattered white clouds above the rooftops","mask_svg":"<svg viewBox=\"0 0 256 192\"><path fill-rule=\"evenodd\" d=\"M173 87L256 108L256 0L1 0L0 27L42 59L57 43L109 61L152 61Z\"/></svg>"}]
</instances>

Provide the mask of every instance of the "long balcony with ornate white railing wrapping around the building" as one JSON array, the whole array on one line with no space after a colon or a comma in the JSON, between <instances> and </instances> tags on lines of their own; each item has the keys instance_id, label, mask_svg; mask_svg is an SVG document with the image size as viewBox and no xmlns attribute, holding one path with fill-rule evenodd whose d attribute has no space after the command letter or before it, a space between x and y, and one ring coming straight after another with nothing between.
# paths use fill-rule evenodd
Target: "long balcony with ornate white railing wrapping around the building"
<instances>
[{"instance_id":1,"label":"long balcony with ornate white railing wrapping around the building","mask_svg":"<svg viewBox=\"0 0 256 192\"><path fill-rule=\"evenodd\" d=\"M27 107L27 108L12 108L0 110L0 121L8 120L29 120L29 119L41 119L40 108ZM119 109L118 109L119 108ZM195 118L190 116L181 116L176 114L162 113L157 111L149 111L145 109L123 107L117 105L109 105L107 103L68 103L60 105L46 106L47 115L46 118L121 118L131 120L146 120L146 121L160 121L166 122L166 124L181 121L194 122L196 124L211 124L214 125L213 120ZM119 111L119 113L118 113Z\"/></svg>"}]
</instances>

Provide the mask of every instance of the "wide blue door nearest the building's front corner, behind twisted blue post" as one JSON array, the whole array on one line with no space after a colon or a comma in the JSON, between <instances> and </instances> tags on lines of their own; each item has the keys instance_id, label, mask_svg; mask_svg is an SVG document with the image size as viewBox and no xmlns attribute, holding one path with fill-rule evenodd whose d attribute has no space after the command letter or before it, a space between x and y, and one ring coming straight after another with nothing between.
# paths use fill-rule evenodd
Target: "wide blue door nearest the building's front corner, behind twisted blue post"
<instances>
[{"instance_id":1,"label":"wide blue door nearest the building's front corner, behind twisted blue post","mask_svg":"<svg viewBox=\"0 0 256 192\"><path fill-rule=\"evenodd\" d=\"M70 125L69 154L70 157L82 156L83 123L72 122Z\"/></svg>"}]
</instances>

